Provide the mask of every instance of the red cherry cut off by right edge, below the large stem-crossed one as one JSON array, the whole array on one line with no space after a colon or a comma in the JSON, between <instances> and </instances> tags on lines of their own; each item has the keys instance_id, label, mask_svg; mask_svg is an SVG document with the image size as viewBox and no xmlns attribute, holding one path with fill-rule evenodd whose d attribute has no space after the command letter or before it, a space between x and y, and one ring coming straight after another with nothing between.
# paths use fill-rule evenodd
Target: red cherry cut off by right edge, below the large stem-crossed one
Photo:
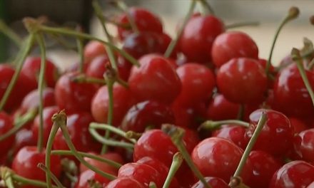
<instances>
[{"instance_id":1,"label":"red cherry cut off by right edge, below the large stem-crossed one","mask_svg":"<svg viewBox=\"0 0 314 188\"><path fill-rule=\"evenodd\" d=\"M314 162L314 128L295 135L294 151L301 160Z\"/></svg>"}]
</instances>

